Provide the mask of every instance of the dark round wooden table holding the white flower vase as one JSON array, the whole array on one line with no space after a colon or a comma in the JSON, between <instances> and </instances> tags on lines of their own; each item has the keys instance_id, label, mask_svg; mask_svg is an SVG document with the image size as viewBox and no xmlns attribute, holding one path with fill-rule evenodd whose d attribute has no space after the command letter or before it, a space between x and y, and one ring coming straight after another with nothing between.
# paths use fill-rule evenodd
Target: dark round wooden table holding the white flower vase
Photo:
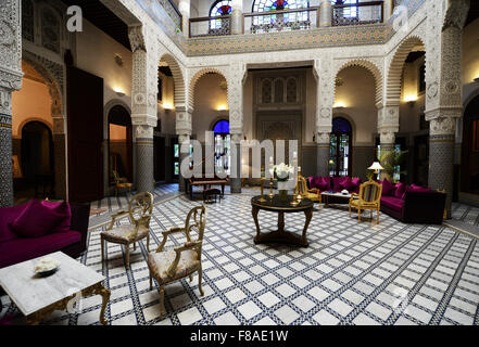
<instances>
[{"instance_id":1,"label":"dark round wooden table holding the white flower vase","mask_svg":"<svg viewBox=\"0 0 479 347\"><path fill-rule=\"evenodd\" d=\"M261 196L254 196L251 200L252 215L254 223L256 224L256 236L254 243L287 243L307 247L310 243L306 240L307 227L310 227L311 219L313 218L314 202L308 198L303 198L297 206L292 206L291 202L293 197L288 195L287 201L279 198L279 195L275 195L269 198L264 196L265 202L261 202ZM260 222L257 221L257 214L260 210L267 210L278 214L278 230L268 233L261 233ZM285 214L304 213L306 221L303 228L303 234L301 236L295 233L285 230Z\"/></svg>"}]
</instances>

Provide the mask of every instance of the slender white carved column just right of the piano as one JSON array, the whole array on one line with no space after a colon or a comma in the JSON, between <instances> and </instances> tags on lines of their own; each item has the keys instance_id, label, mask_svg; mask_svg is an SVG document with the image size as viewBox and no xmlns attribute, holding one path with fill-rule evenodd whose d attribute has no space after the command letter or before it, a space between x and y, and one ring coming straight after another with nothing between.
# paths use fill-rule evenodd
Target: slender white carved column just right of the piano
<instances>
[{"instance_id":1,"label":"slender white carved column just right of the piano","mask_svg":"<svg viewBox=\"0 0 479 347\"><path fill-rule=\"evenodd\" d=\"M247 66L235 63L228 78L229 132L231 133L231 193L241 193L241 140L243 139L243 83Z\"/></svg>"}]
</instances>

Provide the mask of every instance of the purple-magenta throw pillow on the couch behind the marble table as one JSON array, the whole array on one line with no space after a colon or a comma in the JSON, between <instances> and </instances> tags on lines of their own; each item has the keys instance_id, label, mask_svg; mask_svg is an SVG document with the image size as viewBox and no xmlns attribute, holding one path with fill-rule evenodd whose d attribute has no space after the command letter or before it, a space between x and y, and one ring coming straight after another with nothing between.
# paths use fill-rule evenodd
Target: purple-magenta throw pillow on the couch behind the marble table
<instances>
[{"instance_id":1,"label":"purple-magenta throw pillow on the couch behind the marble table","mask_svg":"<svg viewBox=\"0 0 479 347\"><path fill-rule=\"evenodd\" d=\"M41 237L50 233L62 218L59 213L31 200L10 224L10 229L22 237Z\"/></svg>"}]
</instances>

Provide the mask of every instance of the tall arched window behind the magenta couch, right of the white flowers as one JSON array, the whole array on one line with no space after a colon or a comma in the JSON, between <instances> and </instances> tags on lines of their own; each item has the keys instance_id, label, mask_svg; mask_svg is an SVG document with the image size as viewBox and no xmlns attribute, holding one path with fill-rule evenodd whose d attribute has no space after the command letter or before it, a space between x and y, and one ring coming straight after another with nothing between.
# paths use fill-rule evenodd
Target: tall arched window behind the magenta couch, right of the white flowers
<instances>
[{"instance_id":1,"label":"tall arched window behind the magenta couch, right of the white flowers","mask_svg":"<svg viewBox=\"0 0 479 347\"><path fill-rule=\"evenodd\" d=\"M351 146L353 128L351 124L338 117L332 119L332 132L329 143L329 175L350 176L351 175Z\"/></svg>"}]
</instances>

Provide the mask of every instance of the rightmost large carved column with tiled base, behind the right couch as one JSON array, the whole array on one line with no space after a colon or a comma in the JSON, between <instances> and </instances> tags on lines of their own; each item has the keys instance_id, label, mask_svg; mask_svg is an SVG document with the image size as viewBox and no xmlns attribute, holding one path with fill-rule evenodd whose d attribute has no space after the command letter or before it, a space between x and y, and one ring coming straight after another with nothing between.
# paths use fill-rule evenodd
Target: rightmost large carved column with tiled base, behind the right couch
<instances>
[{"instance_id":1,"label":"rightmost large carved column with tiled base, behind the right couch","mask_svg":"<svg viewBox=\"0 0 479 347\"><path fill-rule=\"evenodd\" d=\"M432 8L431 18L428 21L428 43L436 48L427 57L429 187L445 190L448 218L451 217L453 196L455 127L463 112L462 42L469 5L468 0L451 1L445 17L441 13L441 7Z\"/></svg>"}]
</instances>

